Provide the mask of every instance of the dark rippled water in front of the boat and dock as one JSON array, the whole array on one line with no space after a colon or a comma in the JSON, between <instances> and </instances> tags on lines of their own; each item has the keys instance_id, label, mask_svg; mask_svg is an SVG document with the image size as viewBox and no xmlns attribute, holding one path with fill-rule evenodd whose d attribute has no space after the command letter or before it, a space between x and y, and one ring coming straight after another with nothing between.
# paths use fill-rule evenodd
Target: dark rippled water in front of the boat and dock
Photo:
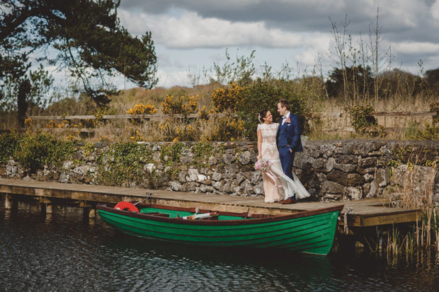
<instances>
[{"instance_id":1,"label":"dark rippled water in front of the boat and dock","mask_svg":"<svg viewBox=\"0 0 439 292\"><path fill-rule=\"evenodd\" d=\"M2 205L4 206L4 205ZM0 207L0 291L432 291L435 255L217 250L122 235L81 209Z\"/></svg>"}]
</instances>

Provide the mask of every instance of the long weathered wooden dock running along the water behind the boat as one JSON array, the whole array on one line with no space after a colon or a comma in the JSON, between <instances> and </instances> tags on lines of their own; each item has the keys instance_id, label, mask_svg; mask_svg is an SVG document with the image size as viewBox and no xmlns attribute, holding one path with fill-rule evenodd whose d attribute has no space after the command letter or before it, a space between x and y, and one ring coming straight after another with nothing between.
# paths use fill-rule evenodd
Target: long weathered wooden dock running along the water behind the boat
<instances>
[{"instance_id":1,"label":"long weathered wooden dock running along the water behind the boat","mask_svg":"<svg viewBox=\"0 0 439 292\"><path fill-rule=\"evenodd\" d=\"M297 204L267 204L262 197L238 197L220 194L196 194L156 189L106 187L101 185L74 185L59 182L0 179L0 193L6 194L6 209L11 208L16 195L29 196L47 206L62 200L76 202L78 206L91 209L101 202L142 201L168 206L196 206L200 209L218 211L249 211L253 214L290 214L298 211L321 209L340 204L345 209L339 216L344 224L346 216L349 227L382 226L393 223L410 223L421 218L421 211L389 208L389 199L365 199L351 202L299 202Z\"/></svg>"}]
</instances>

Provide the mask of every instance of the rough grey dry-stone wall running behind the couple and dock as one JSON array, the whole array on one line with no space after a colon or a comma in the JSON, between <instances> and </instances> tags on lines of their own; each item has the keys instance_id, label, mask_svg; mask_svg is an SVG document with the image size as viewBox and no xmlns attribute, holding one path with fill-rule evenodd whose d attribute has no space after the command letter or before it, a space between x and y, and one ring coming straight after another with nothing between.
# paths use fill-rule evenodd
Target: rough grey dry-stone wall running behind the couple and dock
<instances>
[{"instance_id":1,"label":"rough grey dry-stone wall running behind the couple and dock","mask_svg":"<svg viewBox=\"0 0 439 292\"><path fill-rule=\"evenodd\" d=\"M24 170L11 157L0 176L145 189L262 196L261 173L253 169L255 142L146 143L133 165L118 163L115 144L79 144L71 160ZM206 146L207 145L207 146ZM201 149L201 150L200 150ZM439 197L439 141L309 141L295 157L295 173L319 200L378 197L411 187ZM116 167L117 166L117 167ZM125 169L126 168L126 169ZM127 177L125 180L120 177Z\"/></svg>"}]
</instances>

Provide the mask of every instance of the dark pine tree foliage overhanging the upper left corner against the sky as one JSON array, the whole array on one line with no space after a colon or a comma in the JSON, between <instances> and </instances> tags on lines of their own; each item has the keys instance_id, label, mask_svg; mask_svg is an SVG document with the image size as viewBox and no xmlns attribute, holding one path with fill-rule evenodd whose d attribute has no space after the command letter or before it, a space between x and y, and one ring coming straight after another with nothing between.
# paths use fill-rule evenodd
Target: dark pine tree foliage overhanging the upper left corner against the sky
<instances>
[{"instance_id":1,"label":"dark pine tree foliage overhanging the upper left corner against the sky","mask_svg":"<svg viewBox=\"0 0 439 292\"><path fill-rule=\"evenodd\" d=\"M119 0L6 1L0 10L0 57L21 64L18 69L25 67L13 69L18 80L30 66L28 55L50 48L57 57L49 62L67 68L99 105L115 93L108 76L123 74L138 86L152 88L156 54L151 33L140 39L130 35L120 26L119 5Z\"/></svg>"}]
</instances>

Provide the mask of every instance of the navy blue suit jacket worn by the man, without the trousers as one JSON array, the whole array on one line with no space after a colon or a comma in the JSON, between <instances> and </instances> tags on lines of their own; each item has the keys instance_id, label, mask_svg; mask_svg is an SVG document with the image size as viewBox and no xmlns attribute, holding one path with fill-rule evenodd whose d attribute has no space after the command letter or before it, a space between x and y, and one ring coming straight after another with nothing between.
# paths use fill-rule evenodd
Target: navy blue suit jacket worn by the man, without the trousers
<instances>
[{"instance_id":1,"label":"navy blue suit jacket worn by the man, without the trousers","mask_svg":"<svg viewBox=\"0 0 439 292\"><path fill-rule=\"evenodd\" d=\"M290 119L289 121L288 118ZM290 145L289 147L292 152L303 151L300 134L300 119L297 115L292 115L290 112L284 124L282 124L282 117L280 117L278 132L276 134L278 147Z\"/></svg>"}]
</instances>

